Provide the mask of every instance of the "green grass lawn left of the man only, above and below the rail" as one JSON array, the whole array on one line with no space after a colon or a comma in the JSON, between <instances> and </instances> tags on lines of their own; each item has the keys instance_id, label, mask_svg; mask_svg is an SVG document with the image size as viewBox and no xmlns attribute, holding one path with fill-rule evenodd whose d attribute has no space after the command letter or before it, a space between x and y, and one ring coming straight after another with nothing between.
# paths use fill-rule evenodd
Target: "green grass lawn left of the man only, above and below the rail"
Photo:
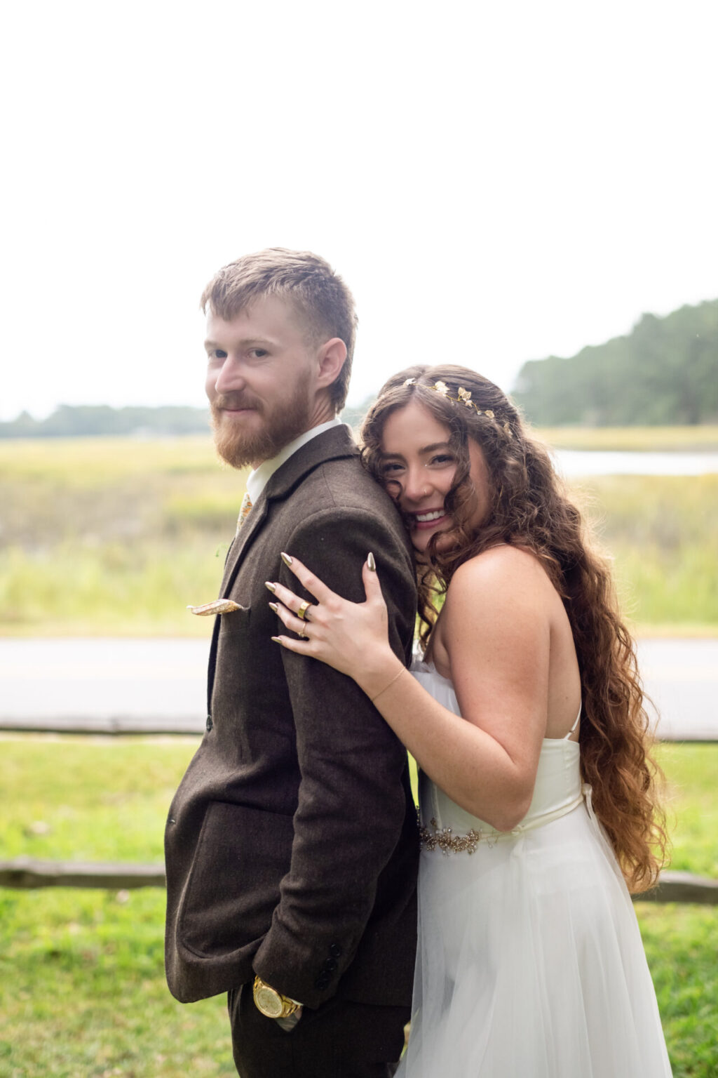
<instances>
[{"instance_id":1,"label":"green grass lawn left of the man only, above and below the rail","mask_svg":"<svg viewBox=\"0 0 718 1078\"><path fill-rule=\"evenodd\" d=\"M2 856L161 861L195 744L4 740ZM236 1075L224 998L183 1007L167 990L164 915L159 888L0 888L0 1076Z\"/></svg>"}]
</instances>

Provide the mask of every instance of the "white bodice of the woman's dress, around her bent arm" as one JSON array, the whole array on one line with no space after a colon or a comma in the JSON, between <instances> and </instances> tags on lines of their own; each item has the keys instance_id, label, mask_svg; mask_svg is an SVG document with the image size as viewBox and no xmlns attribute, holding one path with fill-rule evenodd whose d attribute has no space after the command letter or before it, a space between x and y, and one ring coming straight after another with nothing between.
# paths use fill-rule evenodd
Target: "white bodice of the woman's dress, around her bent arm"
<instances>
[{"instance_id":1,"label":"white bodice of the woman's dress, around her bent arm","mask_svg":"<svg viewBox=\"0 0 718 1078\"><path fill-rule=\"evenodd\" d=\"M411 673L427 692L446 708L461 715L452 682L431 664L414 662ZM529 812L511 834L540 827L576 808L583 800L578 742L545 737L538 758L538 770ZM419 775L419 800L422 825L452 833L474 831L498 838L501 832L476 816L471 816L440 790L426 775ZM436 821L436 823L434 823Z\"/></svg>"}]
</instances>

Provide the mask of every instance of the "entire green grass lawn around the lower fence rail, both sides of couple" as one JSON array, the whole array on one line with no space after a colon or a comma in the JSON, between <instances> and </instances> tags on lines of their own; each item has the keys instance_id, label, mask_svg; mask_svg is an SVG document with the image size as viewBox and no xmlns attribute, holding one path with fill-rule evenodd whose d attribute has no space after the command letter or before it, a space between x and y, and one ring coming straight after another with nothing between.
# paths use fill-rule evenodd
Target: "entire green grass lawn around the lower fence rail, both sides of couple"
<instances>
[{"instance_id":1,"label":"entire green grass lawn around the lower fence rail, both sides of couple","mask_svg":"<svg viewBox=\"0 0 718 1078\"><path fill-rule=\"evenodd\" d=\"M195 738L5 737L3 857L161 860ZM675 868L718 876L718 746L663 746ZM231 1076L223 997L175 1003L164 892L0 889L0 1076ZM716 1078L718 909L638 903L676 1078ZM437 1076L438 1078L438 1076Z\"/></svg>"}]
</instances>

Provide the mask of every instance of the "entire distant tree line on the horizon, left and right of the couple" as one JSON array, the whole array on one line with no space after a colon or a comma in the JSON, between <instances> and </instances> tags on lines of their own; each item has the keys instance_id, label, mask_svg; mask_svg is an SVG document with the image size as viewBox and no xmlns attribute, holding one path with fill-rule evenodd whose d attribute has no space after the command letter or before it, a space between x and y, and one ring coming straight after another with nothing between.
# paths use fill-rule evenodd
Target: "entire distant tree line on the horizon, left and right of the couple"
<instances>
[{"instance_id":1,"label":"entire distant tree line on the horizon, left and right of the couple","mask_svg":"<svg viewBox=\"0 0 718 1078\"><path fill-rule=\"evenodd\" d=\"M643 315L628 336L582 348L569 359L530 360L513 392L539 426L680 426L718 423L718 300L665 318ZM371 403L341 414L355 429ZM206 433L200 407L61 404L46 419L23 412L0 423L0 438Z\"/></svg>"}]
</instances>

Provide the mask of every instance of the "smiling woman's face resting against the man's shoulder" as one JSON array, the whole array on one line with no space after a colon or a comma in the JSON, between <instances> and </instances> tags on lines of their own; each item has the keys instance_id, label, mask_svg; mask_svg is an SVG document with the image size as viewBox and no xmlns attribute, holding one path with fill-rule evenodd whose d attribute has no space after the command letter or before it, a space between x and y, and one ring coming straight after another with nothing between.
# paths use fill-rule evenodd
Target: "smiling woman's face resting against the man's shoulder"
<instances>
[{"instance_id":1,"label":"smiling woman's face resting against the man's shoulder","mask_svg":"<svg viewBox=\"0 0 718 1078\"><path fill-rule=\"evenodd\" d=\"M456 471L449 438L449 428L416 400L392 412L384 424L381 442L384 482L393 497L398 494L398 503L409 516L411 542L420 554L433 535L454 527L454 520L444 506ZM476 508L469 523L478 527L489 511L489 470L483 453L471 438L468 454L476 492ZM449 547L450 538L439 540L438 550L442 543Z\"/></svg>"}]
</instances>

